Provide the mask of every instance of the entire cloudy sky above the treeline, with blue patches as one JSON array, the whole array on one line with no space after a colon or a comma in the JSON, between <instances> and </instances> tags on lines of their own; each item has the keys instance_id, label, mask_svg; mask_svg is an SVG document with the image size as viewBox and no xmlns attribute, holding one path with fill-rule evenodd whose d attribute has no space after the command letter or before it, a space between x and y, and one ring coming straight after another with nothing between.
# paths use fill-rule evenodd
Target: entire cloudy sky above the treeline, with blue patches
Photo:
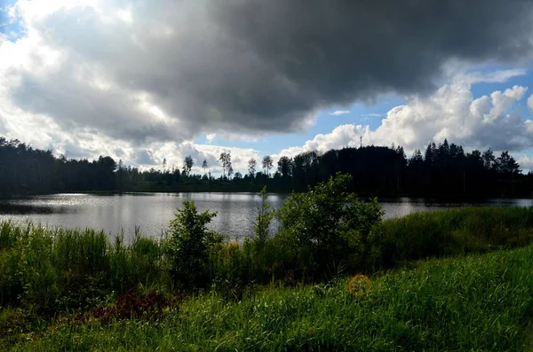
<instances>
[{"instance_id":1,"label":"entire cloudy sky above the treeline, with blue patches","mask_svg":"<svg viewBox=\"0 0 533 352\"><path fill-rule=\"evenodd\" d=\"M141 168L430 142L533 167L529 0L0 0L0 136ZM531 86L531 87L529 87Z\"/></svg>"}]
</instances>

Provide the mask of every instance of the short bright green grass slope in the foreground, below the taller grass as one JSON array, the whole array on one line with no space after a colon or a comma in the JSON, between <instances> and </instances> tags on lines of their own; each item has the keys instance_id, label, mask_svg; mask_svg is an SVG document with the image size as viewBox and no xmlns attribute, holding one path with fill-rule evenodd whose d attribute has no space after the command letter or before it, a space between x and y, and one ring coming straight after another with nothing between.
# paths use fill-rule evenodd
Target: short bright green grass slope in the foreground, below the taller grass
<instances>
[{"instance_id":1,"label":"short bright green grass slope in the foreground, below the taller grass","mask_svg":"<svg viewBox=\"0 0 533 352\"><path fill-rule=\"evenodd\" d=\"M533 348L533 246L371 277L190 297L149 318L56 318L13 350L509 350ZM5 319L9 314L5 312ZM28 340L27 340L28 339Z\"/></svg>"}]
</instances>

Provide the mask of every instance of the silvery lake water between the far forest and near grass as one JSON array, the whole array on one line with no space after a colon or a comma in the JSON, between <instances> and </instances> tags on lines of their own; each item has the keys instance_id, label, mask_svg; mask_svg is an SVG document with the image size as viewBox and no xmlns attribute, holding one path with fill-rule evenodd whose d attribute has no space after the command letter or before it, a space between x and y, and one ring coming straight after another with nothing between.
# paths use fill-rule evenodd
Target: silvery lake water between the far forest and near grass
<instances>
[{"instance_id":1,"label":"silvery lake water between the far forest and near grass","mask_svg":"<svg viewBox=\"0 0 533 352\"><path fill-rule=\"evenodd\" d=\"M282 206L286 194L270 194L274 208ZM198 210L210 209L218 215L211 230L225 233L230 239L251 234L259 206L254 193L124 193L124 194L52 194L24 199L0 200L0 221L45 223L68 228L102 229L111 235L121 231L126 238L135 226L145 236L161 236L183 200L194 200ZM531 199L379 199L385 218L447 207L491 206L529 207ZM275 225L275 224L274 224Z\"/></svg>"}]
</instances>

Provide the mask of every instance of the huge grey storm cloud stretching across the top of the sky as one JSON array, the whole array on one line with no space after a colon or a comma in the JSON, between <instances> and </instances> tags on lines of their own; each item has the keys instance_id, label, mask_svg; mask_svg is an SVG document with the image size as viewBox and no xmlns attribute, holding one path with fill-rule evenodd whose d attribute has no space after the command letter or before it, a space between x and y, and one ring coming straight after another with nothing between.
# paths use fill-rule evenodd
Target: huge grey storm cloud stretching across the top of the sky
<instances>
[{"instance_id":1,"label":"huge grey storm cloud stretching across the top of the sky","mask_svg":"<svg viewBox=\"0 0 533 352\"><path fill-rule=\"evenodd\" d=\"M325 107L430 92L450 60L524 62L532 9L525 0L139 1L125 25L65 10L35 26L68 63L24 73L13 97L62 126L135 141L295 131ZM84 63L115 88L72 83ZM139 112L136 92L177 123Z\"/></svg>"}]
</instances>

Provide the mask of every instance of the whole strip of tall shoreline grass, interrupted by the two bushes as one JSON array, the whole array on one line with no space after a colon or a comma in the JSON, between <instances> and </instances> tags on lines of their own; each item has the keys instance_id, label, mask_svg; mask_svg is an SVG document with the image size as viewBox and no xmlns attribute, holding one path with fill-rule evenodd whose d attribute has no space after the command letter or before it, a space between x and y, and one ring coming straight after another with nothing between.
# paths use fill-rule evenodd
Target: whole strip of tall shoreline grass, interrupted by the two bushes
<instances>
[{"instance_id":1,"label":"whole strip of tall shoreline grass, interrupted by the two bushes","mask_svg":"<svg viewBox=\"0 0 533 352\"><path fill-rule=\"evenodd\" d=\"M471 207L386 220L373 230L375 253L348 267L333 262L325 277L372 273L427 257L484 253L526 246L533 238L533 209ZM173 293L171 259L161 241L140 236L129 243L102 231L64 230L38 224L0 223L0 306L52 314L91 309L135 287ZM239 300L256 286L310 282L301 251L276 237L211 246L211 289ZM319 277L317 275L317 277Z\"/></svg>"}]
</instances>

